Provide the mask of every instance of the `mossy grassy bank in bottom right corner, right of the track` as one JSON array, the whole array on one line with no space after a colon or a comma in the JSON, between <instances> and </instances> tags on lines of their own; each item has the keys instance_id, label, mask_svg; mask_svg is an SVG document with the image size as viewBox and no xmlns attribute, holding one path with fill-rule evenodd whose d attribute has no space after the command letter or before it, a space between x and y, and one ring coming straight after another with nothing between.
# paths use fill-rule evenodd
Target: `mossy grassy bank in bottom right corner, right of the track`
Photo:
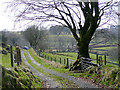
<instances>
[{"instance_id":1,"label":"mossy grassy bank in bottom right corner, right of the track","mask_svg":"<svg viewBox=\"0 0 120 90\"><path fill-rule=\"evenodd\" d=\"M109 88L120 88L120 68L112 65L102 67L89 67L88 70L80 74L80 77L100 83Z\"/></svg>"}]
</instances>

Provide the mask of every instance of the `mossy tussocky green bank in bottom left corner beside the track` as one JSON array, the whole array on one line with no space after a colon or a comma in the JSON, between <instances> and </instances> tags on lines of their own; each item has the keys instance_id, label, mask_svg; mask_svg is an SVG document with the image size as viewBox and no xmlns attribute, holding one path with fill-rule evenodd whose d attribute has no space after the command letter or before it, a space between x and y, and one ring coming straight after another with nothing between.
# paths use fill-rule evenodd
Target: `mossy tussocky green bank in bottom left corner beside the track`
<instances>
[{"instance_id":1,"label":"mossy tussocky green bank in bottom left corner beside the track","mask_svg":"<svg viewBox=\"0 0 120 90\"><path fill-rule=\"evenodd\" d=\"M2 67L2 88L41 88L42 81L28 67L20 66L12 69Z\"/></svg>"}]
</instances>

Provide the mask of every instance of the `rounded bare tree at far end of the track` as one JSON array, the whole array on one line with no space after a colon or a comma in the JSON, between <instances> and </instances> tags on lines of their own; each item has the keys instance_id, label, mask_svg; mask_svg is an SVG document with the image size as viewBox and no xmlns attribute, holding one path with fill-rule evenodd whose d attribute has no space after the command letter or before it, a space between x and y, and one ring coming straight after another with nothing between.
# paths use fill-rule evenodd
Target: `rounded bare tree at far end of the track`
<instances>
[{"instance_id":1,"label":"rounded bare tree at far end of the track","mask_svg":"<svg viewBox=\"0 0 120 90\"><path fill-rule=\"evenodd\" d=\"M43 28L42 28L43 29ZM34 49L45 49L46 35L43 30L39 30L38 26L28 27L22 34Z\"/></svg>"}]
</instances>

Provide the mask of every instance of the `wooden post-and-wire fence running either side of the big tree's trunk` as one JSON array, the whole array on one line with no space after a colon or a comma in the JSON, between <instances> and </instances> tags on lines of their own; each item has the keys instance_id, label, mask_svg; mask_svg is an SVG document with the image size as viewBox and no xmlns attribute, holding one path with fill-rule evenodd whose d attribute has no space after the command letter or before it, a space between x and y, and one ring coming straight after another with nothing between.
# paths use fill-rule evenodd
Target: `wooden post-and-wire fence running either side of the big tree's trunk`
<instances>
[{"instance_id":1,"label":"wooden post-and-wire fence running either side of the big tree's trunk","mask_svg":"<svg viewBox=\"0 0 120 90\"><path fill-rule=\"evenodd\" d=\"M97 64L98 66L106 65L106 64L113 64L113 65L117 65L117 66L119 65L118 61L117 61L117 63L115 63L113 61L107 60L108 55L98 54L98 53L94 53L94 54L96 55L96 59L91 59L91 61L94 61L94 62L92 62L93 64ZM56 57L52 57L52 56L44 55L44 54L38 54L38 55L42 58L45 58L46 60L58 62L60 64L66 65L66 66L71 66L76 61L76 60L72 60L69 58L62 58L62 57L56 58Z\"/></svg>"}]
</instances>

